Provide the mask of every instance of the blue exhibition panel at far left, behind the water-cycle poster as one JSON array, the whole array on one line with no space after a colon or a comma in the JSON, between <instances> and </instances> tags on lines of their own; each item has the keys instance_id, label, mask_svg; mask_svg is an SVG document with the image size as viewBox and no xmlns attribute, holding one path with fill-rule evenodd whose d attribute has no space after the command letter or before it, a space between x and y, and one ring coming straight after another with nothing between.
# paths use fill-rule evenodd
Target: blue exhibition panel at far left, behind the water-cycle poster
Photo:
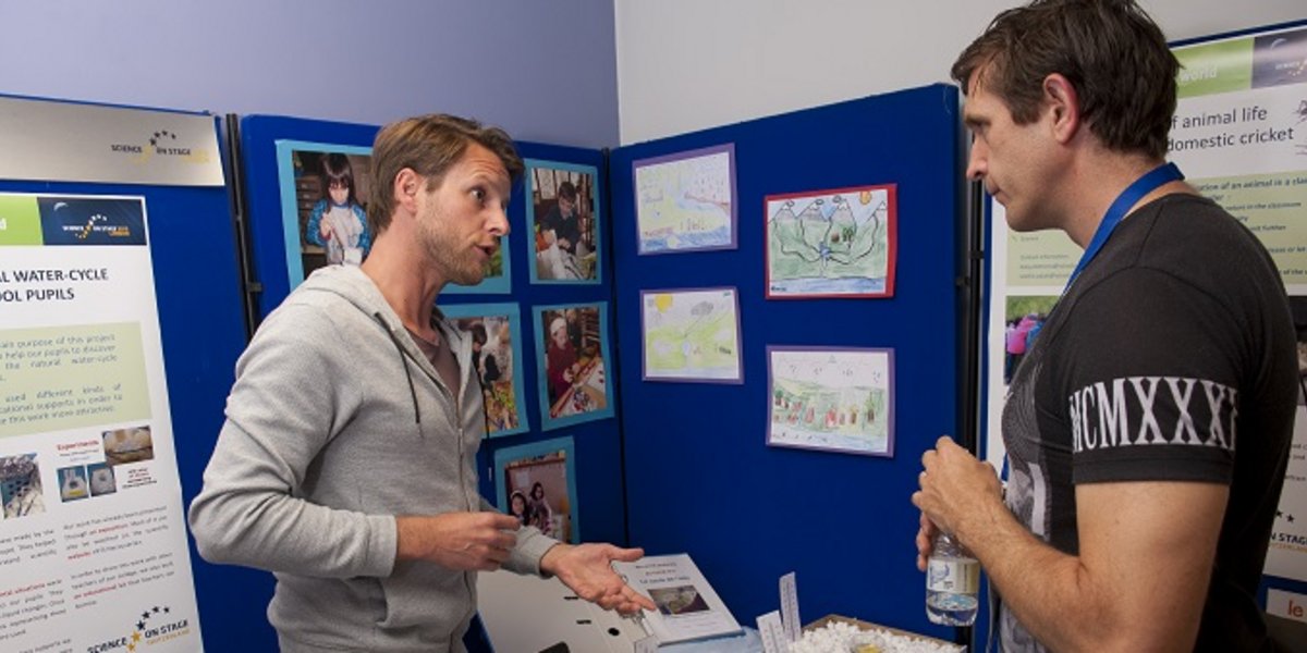
<instances>
[{"instance_id":1,"label":"blue exhibition panel at far left, behind the water-cycle poster","mask_svg":"<svg viewBox=\"0 0 1307 653\"><path fill-rule=\"evenodd\" d=\"M244 349L237 236L225 187L0 182L0 192L142 196L183 507L199 494ZM272 650L265 573L204 562L191 542L209 650Z\"/></svg>"}]
</instances>

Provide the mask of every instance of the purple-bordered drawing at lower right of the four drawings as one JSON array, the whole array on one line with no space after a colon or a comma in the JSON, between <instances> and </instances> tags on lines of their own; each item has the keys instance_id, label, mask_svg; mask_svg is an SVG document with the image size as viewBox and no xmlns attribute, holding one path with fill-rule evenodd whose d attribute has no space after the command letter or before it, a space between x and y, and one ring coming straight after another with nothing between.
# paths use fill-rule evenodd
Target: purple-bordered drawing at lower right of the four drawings
<instances>
[{"instance_id":1,"label":"purple-bordered drawing at lower right of the four drawings","mask_svg":"<svg viewBox=\"0 0 1307 653\"><path fill-rule=\"evenodd\" d=\"M894 456L894 350L767 347L767 444Z\"/></svg>"}]
</instances>

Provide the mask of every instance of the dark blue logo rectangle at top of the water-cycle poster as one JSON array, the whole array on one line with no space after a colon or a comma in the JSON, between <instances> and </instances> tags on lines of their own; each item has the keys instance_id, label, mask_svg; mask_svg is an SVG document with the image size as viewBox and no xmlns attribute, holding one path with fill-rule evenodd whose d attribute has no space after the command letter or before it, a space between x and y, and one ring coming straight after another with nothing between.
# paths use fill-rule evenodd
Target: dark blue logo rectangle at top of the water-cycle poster
<instances>
[{"instance_id":1,"label":"dark blue logo rectangle at top of the water-cycle poster","mask_svg":"<svg viewBox=\"0 0 1307 653\"><path fill-rule=\"evenodd\" d=\"M139 200L41 197L41 226L50 244L145 244Z\"/></svg>"}]
</instances>

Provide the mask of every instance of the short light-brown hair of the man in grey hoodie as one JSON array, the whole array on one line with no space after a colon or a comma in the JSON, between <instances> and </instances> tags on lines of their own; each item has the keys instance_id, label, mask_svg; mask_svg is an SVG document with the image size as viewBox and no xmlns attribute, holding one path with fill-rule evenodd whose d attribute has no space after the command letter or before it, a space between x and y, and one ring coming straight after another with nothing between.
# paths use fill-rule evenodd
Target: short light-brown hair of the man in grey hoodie
<instances>
[{"instance_id":1,"label":"short light-brown hair of the man in grey hoodie","mask_svg":"<svg viewBox=\"0 0 1307 653\"><path fill-rule=\"evenodd\" d=\"M525 170L521 157L512 145L512 137L498 127L482 127L476 120L447 114L408 118L383 127L372 144L372 201L367 205L372 234L380 234L391 225L395 176L401 170L413 168L426 178L427 189L434 189L472 142L499 157L514 184L521 179Z\"/></svg>"}]
</instances>

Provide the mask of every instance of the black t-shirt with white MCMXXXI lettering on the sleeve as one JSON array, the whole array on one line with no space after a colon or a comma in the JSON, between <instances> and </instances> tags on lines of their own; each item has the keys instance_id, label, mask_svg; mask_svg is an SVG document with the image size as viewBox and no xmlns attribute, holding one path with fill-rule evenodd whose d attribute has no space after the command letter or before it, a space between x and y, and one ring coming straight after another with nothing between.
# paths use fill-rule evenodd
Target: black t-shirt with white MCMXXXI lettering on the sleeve
<instances>
[{"instance_id":1,"label":"black t-shirt with white MCMXXXI lettering on the sleeve","mask_svg":"<svg viewBox=\"0 0 1307 653\"><path fill-rule=\"evenodd\" d=\"M1230 486L1197 650L1269 650L1257 584L1297 404L1280 274L1223 209L1170 195L1123 221L1059 300L1002 414L1006 500L1076 555L1076 485ZM1043 650L1001 610L1004 652Z\"/></svg>"}]
</instances>

